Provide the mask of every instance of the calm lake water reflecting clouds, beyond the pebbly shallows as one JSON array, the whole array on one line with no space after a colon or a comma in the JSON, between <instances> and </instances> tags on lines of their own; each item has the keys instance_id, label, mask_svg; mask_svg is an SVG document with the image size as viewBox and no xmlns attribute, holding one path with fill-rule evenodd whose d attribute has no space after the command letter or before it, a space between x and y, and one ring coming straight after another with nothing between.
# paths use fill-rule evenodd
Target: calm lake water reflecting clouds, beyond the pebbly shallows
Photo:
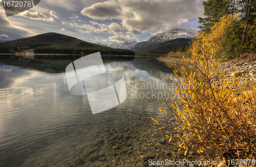
<instances>
[{"instance_id":1,"label":"calm lake water reflecting clouds, beyond the pebbly shallows","mask_svg":"<svg viewBox=\"0 0 256 167\"><path fill-rule=\"evenodd\" d=\"M109 76L124 76L127 98L92 114L87 96L68 89L65 70L78 58L0 55L0 166L67 166L69 156L93 148L99 138L156 129L151 116L161 117L172 67L152 57L102 56ZM102 148L107 162L110 155Z\"/></svg>"}]
</instances>

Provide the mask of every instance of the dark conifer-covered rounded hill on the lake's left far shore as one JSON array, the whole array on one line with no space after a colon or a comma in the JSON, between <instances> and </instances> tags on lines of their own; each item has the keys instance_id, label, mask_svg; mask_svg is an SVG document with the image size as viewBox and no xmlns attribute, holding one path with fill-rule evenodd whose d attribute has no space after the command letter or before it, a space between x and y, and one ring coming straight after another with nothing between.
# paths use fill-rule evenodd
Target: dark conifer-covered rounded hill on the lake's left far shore
<instances>
[{"instance_id":1,"label":"dark conifer-covered rounded hill on the lake's left far shore","mask_svg":"<svg viewBox=\"0 0 256 167\"><path fill-rule=\"evenodd\" d=\"M129 55L135 53L130 50L113 49L58 33L40 34L29 38L16 39L0 43L0 53L18 53L33 49L35 54L92 54L101 55Z\"/></svg>"}]
</instances>

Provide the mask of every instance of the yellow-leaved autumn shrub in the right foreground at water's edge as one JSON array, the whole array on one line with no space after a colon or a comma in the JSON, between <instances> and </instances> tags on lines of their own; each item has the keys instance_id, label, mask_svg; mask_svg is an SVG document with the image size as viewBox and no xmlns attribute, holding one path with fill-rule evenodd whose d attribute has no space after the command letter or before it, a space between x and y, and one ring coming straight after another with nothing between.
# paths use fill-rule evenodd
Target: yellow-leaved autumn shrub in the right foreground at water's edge
<instances>
[{"instance_id":1,"label":"yellow-leaved autumn shrub in the right foreground at water's edge","mask_svg":"<svg viewBox=\"0 0 256 167\"><path fill-rule=\"evenodd\" d=\"M153 121L168 132L169 141L177 135L180 148L197 150L206 158L255 159L256 89L237 77L228 79L214 52L203 46L202 54L185 59L197 75L184 68L181 76L175 73L175 90L169 91L176 91L177 97L163 98L169 110L160 111L176 118L182 135Z\"/></svg>"}]
</instances>

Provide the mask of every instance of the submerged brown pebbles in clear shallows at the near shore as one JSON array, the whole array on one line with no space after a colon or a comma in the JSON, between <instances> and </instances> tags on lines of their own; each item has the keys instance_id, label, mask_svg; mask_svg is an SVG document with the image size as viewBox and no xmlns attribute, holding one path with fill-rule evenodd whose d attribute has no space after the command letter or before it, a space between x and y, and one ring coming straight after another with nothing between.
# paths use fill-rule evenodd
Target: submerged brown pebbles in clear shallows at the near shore
<instances>
[{"instance_id":1,"label":"submerged brown pebbles in clear shallows at the near shore","mask_svg":"<svg viewBox=\"0 0 256 167\"><path fill-rule=\"evenodd\" d=\"M142 167L160 166L149 165L150 159L195 161L203 158L193 150L184 155L185 150L179 150L180 141L176 136L170 142L163 139L151 116L138 111L136 115L117 113L116 117L106 117L101 121L90 122L88 119L87 128L80 128L75 135L67 134L65 139L26 159L21 166ZM169 123L172 122L175 120L170 119ZM175 124L169 125L175 128Z\"/></svg>"}]
</instances>

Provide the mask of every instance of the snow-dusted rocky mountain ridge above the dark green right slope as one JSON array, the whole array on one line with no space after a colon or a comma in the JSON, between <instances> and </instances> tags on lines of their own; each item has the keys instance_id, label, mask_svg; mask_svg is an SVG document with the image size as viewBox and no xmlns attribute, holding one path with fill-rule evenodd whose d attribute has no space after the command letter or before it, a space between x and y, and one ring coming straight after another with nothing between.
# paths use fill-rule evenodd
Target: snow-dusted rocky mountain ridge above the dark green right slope
<instances>
[{"instance_id":1,"label":"snow-dusted rocky mountain ridge above the dark green right slope","mask_svg":"<svg viewBox=\"0 0 256 167\"><path fill-rule=\"evenodd\" d=\"M152 38L150 38L148 41L144 42L139 42L136 45L133 46L131 49L132 51L138 52L139 50L144 49L145 47L148 46L153 46L159 43L163 43L169 40L177 39L177 38L196 38L198 34L197 30L192 30L192 29L173 29L170 31L166 31L163 33L159 33Z\"/></svg>"}]
</instances>

